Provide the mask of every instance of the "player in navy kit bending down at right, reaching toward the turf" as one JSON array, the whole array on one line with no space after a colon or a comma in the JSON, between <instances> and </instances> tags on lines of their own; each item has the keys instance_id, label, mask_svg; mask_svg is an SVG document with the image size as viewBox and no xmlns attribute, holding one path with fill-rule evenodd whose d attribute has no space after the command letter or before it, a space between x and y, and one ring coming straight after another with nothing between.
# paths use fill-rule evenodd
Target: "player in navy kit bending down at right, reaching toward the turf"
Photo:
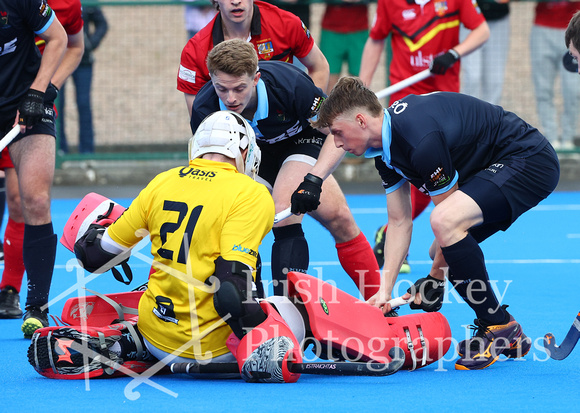
<instances>
[{"instance_id":1,"label":"player in navy kit bending down at right, reaching toward the turf","mask_svg":"<svg viewBox=\"0 0 580 413\"><path fill-rule=\"evenodd\" d=\"M385 266L380 290L368 301L390 311L387 301L411 241L414 185L435 204L433 266L410 289L414 307L439 310L447 276L477 317L474 336L458 345L455 367L482 369L501 354L525 355L530 339L494 294L478 244L555 189L560 166L547 139L500 106L459 93L409 95L384 109L354 77L339 81L314 126L330 129L327 144L374 158L383 180L389 219ZM324 179L332 169L317 164L311 174ZM298 191L294 196L300 197Z\"/></svg>"}]
</instances>

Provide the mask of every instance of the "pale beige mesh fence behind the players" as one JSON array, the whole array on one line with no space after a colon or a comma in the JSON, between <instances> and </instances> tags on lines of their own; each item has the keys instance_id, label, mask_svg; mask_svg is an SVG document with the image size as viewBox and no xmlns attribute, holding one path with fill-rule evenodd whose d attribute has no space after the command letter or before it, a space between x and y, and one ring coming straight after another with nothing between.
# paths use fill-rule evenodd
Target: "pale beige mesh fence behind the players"
<instances>
[{"instance_id":1,"label":"pale beige mesh fence behind the players","mask_svg":"<svg viewBox=\"0 0 580 413\"><path fill-rule=\"evenodd\" d=\"M100 5L109 22L109 31L95 52L92 102L96 152L77 153L78 115L73 82L69 81L63 116L71 150L57 155L57 165L63 168L67 163L70 166L71 162L87 160L154 163L185 159L191 131L183 94L176 89L181 51L188 40L185 3L83 1L83 4ZM317 42L324 7L324 3L311 3L309 28ZM501 103L539 126L529 53L534 7L534 2L511 2L510 53ZM369 9L372 20L376 4ZM385 55L371 85L375 91L386 87ZM556 100L556 105L561 107L561 99Z\"/></svg>"}]
</instances>

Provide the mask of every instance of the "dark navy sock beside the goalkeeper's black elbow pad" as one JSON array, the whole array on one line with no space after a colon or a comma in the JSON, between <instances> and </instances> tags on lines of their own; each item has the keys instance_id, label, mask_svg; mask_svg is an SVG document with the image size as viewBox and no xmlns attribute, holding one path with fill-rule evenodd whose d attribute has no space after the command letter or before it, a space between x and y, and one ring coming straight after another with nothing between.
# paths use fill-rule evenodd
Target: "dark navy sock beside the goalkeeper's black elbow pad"
<instances>
[{"instance_id":1,"label":"dark navy sock beside the goalkeeper's black elbow pad","mask_svg":"<svg viewBox=\"0 0 580 413\"><path fill-rule=\"evenodd\" d=\"M306 273L310 257L308 243L304 238L302 224L272 228L272 282L274 295L287 295L286 275L288 271Z\"/></svg>"}]
</instances>

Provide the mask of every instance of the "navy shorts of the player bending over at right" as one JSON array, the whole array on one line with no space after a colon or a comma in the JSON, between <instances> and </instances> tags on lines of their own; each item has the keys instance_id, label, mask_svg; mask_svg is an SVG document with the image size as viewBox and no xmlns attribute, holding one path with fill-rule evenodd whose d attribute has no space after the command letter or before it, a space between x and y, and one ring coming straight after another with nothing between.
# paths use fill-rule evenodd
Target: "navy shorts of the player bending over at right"
<instances>
[{"instance_id":1,"label":"navy shorts of the player bending over at right","mask_svg":"<svg viewBox=\"0 0 580 413\"><path fill-rule=\"evenodd\" d=\"M483 211L483 223L470 229L481 242L505 231L524 212L547 198L558 184L560 163L549 143L528 158L505 158L459 186Z\"/></svg>"}]
</instances>

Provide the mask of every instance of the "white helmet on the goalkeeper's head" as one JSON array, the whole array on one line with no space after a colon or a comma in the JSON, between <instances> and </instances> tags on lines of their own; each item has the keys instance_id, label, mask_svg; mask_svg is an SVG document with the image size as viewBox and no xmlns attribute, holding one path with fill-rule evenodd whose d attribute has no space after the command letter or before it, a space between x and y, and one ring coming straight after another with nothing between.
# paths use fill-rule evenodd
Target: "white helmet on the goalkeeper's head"
<instances>
[{"instance_id":1,"label":"white helmet on the goalkeeper's head","mask_svg":"<svg viewBox=\"0 0 580 413\"><path fill-rule=\"evenodd\" d=\"M242 151L248 148L246 161ZM262 154L256 143L256 134L242 116L229 110L214 112L207 116L189 140L189 159L206 153L221 153L235 159L239 172L255 179Z\"/></svg>"}]
</instances>

